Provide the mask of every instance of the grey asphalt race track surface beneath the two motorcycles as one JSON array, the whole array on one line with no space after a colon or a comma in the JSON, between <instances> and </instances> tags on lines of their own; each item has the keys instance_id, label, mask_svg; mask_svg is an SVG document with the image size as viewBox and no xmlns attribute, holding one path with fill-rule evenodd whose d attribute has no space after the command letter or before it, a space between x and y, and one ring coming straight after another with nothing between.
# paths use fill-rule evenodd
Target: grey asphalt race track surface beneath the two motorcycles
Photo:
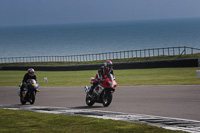
<instances>
[{"instance_id":1,"label":"grey asphalt race track surface beneath the two motorcycles","mask_svg":"<svg viewBox=\"0 0 200 133\"><path fill-rule=\"evenodd\" d=\"M0 105L20 105L18 87L0 87ZM33 106L66 107L200 120L200 85L118 86L109 107L85 104L84 87L40 87ZM29 104L29 103L27 103Z\"/></svg>"}]
</instances>

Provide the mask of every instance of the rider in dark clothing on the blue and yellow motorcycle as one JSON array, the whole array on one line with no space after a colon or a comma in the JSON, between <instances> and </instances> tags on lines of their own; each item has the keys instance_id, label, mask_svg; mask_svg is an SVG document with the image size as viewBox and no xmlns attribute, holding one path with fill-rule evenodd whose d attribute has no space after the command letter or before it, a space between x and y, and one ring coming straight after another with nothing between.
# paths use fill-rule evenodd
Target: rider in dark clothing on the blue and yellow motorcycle
<instances>
[{"instance_id":1,"label":"rider in dark clothing on the blue and yellow motorcycle","mask_svg":"<svg viewBox=\"0 0 200 133\"><path fill-rule=\"evenodd\" d=\"M35 70L33 68L29 68L28 72L24 75L24 78L22 80L22 85L20 87L20 95L22 94L22 91L24 90L24 88L27 86L28 79L35 79L37 81Z\"/></svg>"}]
</instances>

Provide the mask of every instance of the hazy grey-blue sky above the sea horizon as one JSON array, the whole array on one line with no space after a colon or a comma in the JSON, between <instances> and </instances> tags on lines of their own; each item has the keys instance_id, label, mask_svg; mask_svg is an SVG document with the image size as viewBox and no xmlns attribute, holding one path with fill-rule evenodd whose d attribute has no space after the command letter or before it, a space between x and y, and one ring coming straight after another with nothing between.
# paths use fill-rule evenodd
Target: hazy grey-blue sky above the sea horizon
<instances>
[{"instance_id":1,"label":"hazy grey-blue sky above the sea horizon","mask_svg":"<svg viewBox=\"0 0 200 133\"><path fill-rule=\"evenodd\" d=\"M0 0L0 26L200 17L200 0Z\"/></svg>"}]
</instances>

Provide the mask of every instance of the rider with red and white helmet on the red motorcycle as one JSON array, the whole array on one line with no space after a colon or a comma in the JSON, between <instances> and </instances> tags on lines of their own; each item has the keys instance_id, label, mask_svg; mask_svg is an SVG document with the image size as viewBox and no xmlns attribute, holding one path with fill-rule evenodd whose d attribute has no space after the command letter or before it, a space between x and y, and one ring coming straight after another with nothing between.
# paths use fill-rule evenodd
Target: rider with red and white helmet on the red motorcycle
<instances>
[{"instance_id":1,"label":"rider with red and white helmet on the red motorcycle","mask_svg":"<svg viewBox=\"0 0 200 133\"><path fill-rule=\"evenodd\" d=\"M104 65L101 66L101 68L98 70L98 73L96 74L95 81L91 85L91 89L89 90L88 94L91 96L94 88L100 83L103 82L103 80L106 78L106 75L112 74L114 76L113 72L113 63L110 60L106 60Z\"/></svg>"}]
</instances>

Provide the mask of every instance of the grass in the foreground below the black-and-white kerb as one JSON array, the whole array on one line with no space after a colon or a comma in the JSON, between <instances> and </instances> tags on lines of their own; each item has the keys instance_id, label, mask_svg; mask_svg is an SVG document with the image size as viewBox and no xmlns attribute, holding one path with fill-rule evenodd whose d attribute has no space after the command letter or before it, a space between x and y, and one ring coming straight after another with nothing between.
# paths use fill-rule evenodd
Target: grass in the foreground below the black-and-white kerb
<instances>
[{"instance_id":1,"label":"grass in the foreground below the black-and-white kerb","mask_svg":"<svg viewBox=\"0 0 200 133\"><path fill-rule=\"evenodd\" d=\"M182 133L123 121L0 109L0 132Z\"/></svg>"}]
</instances>

